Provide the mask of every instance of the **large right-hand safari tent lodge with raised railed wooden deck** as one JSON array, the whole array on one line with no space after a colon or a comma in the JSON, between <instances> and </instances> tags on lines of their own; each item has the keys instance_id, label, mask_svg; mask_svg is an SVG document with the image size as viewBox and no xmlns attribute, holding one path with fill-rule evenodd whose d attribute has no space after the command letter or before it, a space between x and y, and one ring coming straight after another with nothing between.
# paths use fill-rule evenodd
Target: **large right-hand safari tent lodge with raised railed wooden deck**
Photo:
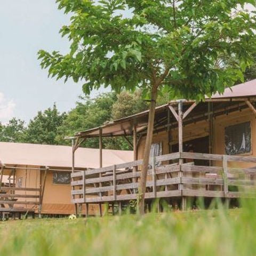
<instances>
[{"instance_id":1,"label":"large right-hand safari tent lodge with raised railed wooden deck","mask_svg":"<svg viewBox=\"0 0 256 256\"><path fill-rule=\"evenodd\" d=\"M256 79L203 102L174 100L156 108L146 205L164 198L186 209L187 198L252 197L256 175ZM71 173L72 202L119 205L137 199L148 111L75 134L73 157L87 138L123 136L133 161ZM102 144L100 143L100 152ZM102 159L102 158L101 158ZM73 163L76 166L76 163Z\"/></svg>"}]
</instances>

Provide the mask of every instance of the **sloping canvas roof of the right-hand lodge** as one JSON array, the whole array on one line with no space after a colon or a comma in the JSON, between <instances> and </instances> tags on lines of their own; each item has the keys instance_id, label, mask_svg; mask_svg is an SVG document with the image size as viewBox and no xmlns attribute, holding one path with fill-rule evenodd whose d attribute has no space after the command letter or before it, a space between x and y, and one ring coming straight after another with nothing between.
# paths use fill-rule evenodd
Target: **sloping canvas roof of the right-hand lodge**
<instances>
[{"instance_id":1,"label":"sloping canvas roof of the right-hand lodge","mask_svg":"<svg viewBox=\"0 0 256 256\"><path fill-rule=\"evenodd\" d=\"M242 101L244 98L248 99L252 97L256 97L256 79L246 83L235 85L231 88L226 88L223 94L216 93L212 95L211 99L206 97L206 101L212 100L214 102L222 102L224 99L230 99L230 101L232 101L232 99L239 100L239 98ZM170 103L177 103L177 102L178 101L175 100ZM190 103L190 102L194 102L194 101L187 101L187 103ZM161 120L161 118L166 117L166 113L164 113L164 111L166 111L169 104L165 104L156 108L156 116L158 116L159 120ZM186 104L186 101L185 101L185 104ZM219 103L219 105L221 104ZM199 107L196 107L196 108L198 109ZM201 108L201 112L203 111L204 109ZM148 113L149 113L149 110L146 110L139 114L117 119L101 127L95 127L90 130L78 132L75 134L75 136L85 137L85 138L98 137L100 128L102 129L103 137L131 135L133 131L134 122L137 124L137 132L140 133L141 131L144 131L147 127Z\"/></svg>"}]
</instances>

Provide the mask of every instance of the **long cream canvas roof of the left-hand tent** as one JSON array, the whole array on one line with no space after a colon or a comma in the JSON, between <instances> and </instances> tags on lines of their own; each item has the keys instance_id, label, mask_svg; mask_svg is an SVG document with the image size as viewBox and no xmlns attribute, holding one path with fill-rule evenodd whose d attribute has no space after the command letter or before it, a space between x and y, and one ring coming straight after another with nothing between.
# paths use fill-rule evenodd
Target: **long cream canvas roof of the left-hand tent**
<instances>
[{"instance_id":1,"label":"long cream canvas roof of the left-hand tent","mask_svg":"<svg viewBox=\"0 0 256 256\"><path fill-rule=\"evenodd\" d=\"M71 152L72 148L68 146L0 142L0 163L5 165L71 167ZM103 166L121 164L132 160L132 151L102 150ZM78 148L75 154L75 167L99 168L99 149Z\"/></svg>"}]
</instances>

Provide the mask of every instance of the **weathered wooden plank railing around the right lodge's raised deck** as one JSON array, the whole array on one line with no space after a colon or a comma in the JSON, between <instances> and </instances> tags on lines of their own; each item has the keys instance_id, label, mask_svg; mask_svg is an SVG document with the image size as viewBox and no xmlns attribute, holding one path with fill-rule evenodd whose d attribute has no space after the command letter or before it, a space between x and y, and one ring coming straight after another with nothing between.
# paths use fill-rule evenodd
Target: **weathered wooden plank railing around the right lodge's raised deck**
<instances>
[{"instance_id":1,"label":"weathered wooden plank railing around the right lodge's raised deck","mask_svg":"<svg viewBox=\"0 0 256 256\"><path fill-rule=\"evenodd\" d=\"M182 164L180 159L183 159ZM214 166L195 165L198 159L214 163ZM229 167L229 162L236 163L236 167ZM71 173L71 186L74 188L71 190L72 202L100 203L136 199L141 164L142 160L138 160ZM244 164L250 166L244 167ZM134 171L136 169L138 171ZM252 197L256 189L254 175L256 177L256 157L199 153L157 156L150 158L145 198Z\"/></svg>"}]
</instances>

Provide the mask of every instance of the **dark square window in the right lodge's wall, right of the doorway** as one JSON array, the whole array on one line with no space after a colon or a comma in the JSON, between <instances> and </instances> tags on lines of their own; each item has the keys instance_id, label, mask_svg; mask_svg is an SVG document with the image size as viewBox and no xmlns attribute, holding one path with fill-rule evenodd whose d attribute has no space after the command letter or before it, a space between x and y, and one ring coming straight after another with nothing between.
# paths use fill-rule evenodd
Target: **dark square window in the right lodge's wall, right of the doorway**
<instances>
[{"instance_id":1,"label":"dark square window in the right lodge's wall, right of the doorway","mask_svg":"<svg viewBox=\"0 0 256 256\"><path fill-rule=\"evenodd\" d=\"M250 153L252 150L251 122L226 127L225 148L227 155Z\"/></svg>"}]
</instances>

